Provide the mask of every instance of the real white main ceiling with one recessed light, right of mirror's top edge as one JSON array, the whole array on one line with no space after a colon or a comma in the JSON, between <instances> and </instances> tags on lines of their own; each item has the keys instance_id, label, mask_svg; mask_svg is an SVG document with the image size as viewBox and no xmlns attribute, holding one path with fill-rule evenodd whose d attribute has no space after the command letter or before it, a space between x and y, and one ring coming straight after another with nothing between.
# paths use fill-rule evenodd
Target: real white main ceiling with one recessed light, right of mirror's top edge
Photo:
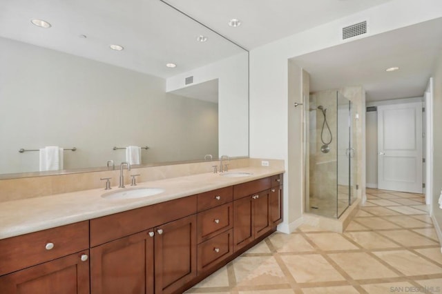
<instances>
[{"instance_id":1,"label":"real white main ceiling with one recessed light, right of mirror's top edge","mask_svg":"<svg viewBox=\"0 0 442 294\"><path fill-rule=\"evenodd\" d=\"M251 50L391 0L162 0ZM241 26L228 26L240 19Z\"/></svg>"}]
</instances>

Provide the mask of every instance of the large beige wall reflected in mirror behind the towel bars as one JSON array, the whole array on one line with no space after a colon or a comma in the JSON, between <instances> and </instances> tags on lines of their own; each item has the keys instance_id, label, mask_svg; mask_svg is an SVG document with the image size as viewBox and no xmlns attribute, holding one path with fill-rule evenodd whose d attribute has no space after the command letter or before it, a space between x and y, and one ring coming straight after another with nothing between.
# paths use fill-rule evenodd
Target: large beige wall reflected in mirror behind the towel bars
<instances>
[{"instance_id":1,"label":"large beige wall reflected in mirror behind the towel bars","mask_svg":"<svg viewBox=\"0 0 442 294\"><path fill-rule=\"evenodd\" d=\"M124 161L113 146L148 146L142 162L218 155L218 105L165 92L164 79L0 38L0 173L39 169L56 145L65 168Z\"/></svg>"}]
</instances>

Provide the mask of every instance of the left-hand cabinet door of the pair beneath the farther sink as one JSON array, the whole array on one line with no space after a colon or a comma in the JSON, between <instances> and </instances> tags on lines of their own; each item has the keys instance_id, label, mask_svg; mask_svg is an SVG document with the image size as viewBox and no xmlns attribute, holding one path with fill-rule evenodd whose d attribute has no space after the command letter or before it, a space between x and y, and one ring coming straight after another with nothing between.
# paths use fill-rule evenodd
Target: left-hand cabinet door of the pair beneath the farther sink
<instances>
[{"instance_id":1,"label":"left-hand cabinet door of the pair beneath the farther sink","mask_svg":"<svg viewBox=\"0 0 442 294\"><path fill-rule=\"evenodd\" d=\"M252 198L244 197L233 202L233 251L253 241Z\"/></svg>"}]
</instances>

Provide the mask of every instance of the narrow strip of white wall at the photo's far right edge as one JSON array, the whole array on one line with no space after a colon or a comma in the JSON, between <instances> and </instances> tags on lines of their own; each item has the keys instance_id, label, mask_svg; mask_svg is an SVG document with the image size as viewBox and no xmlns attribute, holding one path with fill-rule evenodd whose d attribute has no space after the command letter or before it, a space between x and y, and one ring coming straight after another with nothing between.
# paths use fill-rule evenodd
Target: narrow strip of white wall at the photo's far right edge
<instances>
[{"instance_id":1,"label":"narrow strip of white wall at the photo's far right edge","mask_svg":"<svg viewBox=\"0 0 442 294\"><path fill-rule=\"evenodd\" d=\"M442 50L439 53L439 60L436 63L434 72L434 100L433 100L433 206L432 215L434 226L442 240L442 209L439 208L439 195L442 190L442 153L438 152L442 146Z\"/></svg>"}]
</instances>

